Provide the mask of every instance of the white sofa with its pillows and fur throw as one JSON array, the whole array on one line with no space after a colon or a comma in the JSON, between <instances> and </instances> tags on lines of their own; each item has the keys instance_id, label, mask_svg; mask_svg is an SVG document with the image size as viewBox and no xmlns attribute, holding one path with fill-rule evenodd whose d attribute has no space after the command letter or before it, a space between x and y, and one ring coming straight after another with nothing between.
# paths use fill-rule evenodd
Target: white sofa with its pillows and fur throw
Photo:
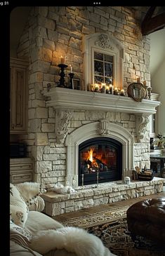
<instances>
[{"instance_id":1,"label":"white sofa with its pillows and fur throw","mask_svg":"<svg viewBox=\"0 0 165 256\"><path fill-rule=\"evenodd\" d=\"M11 256L113 256L97 236L41 213L43 191L37 182L10 184Z\"/></svg>"}]
</instances>

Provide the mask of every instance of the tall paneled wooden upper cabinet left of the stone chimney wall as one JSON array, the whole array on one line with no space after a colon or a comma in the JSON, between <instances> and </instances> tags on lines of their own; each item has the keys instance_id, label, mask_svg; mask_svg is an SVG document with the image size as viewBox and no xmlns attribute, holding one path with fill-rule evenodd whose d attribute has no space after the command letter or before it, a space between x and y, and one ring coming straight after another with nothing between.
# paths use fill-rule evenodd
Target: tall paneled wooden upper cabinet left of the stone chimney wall
<instances>
[{"instance_id":1,"label":"tall paneled wooden upper cabinet left of the stone chimney wall","mask_svg":"<svg viewBox=\"0 0 165 256\"><path fill-rule=\"evenodd\" d=\"M29 62L25 60L10 60L11 134L27 133L28 65Z\"/></svg>"}]
</instances>

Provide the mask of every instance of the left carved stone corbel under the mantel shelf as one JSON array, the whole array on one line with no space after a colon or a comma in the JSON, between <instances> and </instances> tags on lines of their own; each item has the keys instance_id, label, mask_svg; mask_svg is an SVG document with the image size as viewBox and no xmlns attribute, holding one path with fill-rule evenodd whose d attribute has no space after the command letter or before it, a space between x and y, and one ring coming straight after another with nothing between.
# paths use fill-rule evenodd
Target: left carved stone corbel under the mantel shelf
<instances>
[{"instance_id":1,"label":"left carved stone corbel under the mantel shelf","mask_svg":"<svg viewBox=\"0 0 165 256\"><path fill-rule=\"evenodd\" d=\"M55 110L55 135L58 144L64 142L65 137L68 133L68 124L72 119L72 111L64 109Z\"/></svg>"}]
</instances>

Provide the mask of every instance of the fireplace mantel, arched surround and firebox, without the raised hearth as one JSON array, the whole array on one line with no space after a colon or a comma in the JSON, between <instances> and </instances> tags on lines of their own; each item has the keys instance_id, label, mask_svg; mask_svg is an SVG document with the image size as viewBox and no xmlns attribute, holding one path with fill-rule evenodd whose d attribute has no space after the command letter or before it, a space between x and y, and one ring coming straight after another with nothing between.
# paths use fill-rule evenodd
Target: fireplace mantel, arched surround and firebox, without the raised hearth
<instances>
[{"instance_id":1,"label":"fireplace mantel, arched surround and firebox, without the raised hearth","mask_svg":"<svg viewBox=\"0 0 165 256\"><path fill-rule=\"evenodd\" d=\"M65 185L122 180L126 175L131 177L135 166L150 168L149 116L159 102L134 102L130 97L58 87L43 94L47 106L55 109L56 147L61 150L63 144L66 151ZM100 147L98 154L99 150L105 154L107 147L107 154L114 154L112 164L99 161L98 156L103 169L98 163L90 167L85 155L93 147Z\"/></svg>"}]
</instances>

